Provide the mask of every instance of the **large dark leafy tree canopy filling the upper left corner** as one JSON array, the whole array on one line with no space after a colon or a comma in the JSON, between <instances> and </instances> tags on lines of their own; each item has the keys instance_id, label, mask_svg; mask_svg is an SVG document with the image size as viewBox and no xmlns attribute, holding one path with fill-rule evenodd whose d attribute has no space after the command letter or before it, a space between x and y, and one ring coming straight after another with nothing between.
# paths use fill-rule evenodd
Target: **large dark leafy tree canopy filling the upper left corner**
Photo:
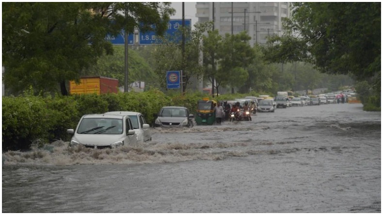
<instances>
[{"instance_id":1,"label":"large dark leafy tree canopy filling the upper left corner","mask_svg":"<svg viewBox=\"0 0 383 215\"><path fill-rule=\"evenodd\" d=\"M36 91L67 94L68 80L112 54L107 33L163 33L174 9L169 2L4 2L2 61L5 85L17 93L30 85ZM124 12L127 13L125 17ZM153 26L156 26L153 28Z\"/></svg>"}]
</instances>

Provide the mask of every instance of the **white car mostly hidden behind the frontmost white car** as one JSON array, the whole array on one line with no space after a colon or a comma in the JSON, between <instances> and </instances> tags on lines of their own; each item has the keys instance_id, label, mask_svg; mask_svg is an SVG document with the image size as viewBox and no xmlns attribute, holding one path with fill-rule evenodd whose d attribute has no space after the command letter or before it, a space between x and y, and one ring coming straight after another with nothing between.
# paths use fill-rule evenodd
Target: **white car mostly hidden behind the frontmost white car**
<instances>
[{"instance_id":1,"label":"white car mostly hidden behind the frontmost white car","mask_svg":"<svg viewBox=\"0 0 383 215\"><path fill-rule=\"evenodd\" d=\"M129 116L130 121L132 122L132 125L133 125L133 129L137 135L137 142L145 142L145 141L152 140L150 129L149 129L150 125L146 123L146 120L142 113L132 112L132 111L112 111L112 112L106 112L105 114Z\"/></svg>"}]
</instances>

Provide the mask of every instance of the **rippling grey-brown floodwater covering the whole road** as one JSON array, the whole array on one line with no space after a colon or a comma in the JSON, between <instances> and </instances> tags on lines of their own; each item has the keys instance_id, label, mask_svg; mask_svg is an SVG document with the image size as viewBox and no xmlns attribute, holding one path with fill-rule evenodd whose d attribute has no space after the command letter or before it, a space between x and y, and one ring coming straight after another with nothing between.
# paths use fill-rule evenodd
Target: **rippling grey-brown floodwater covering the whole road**
<instances>
[{"instance_id":1,"label":"rippling grey-brown floodwater covering the whole road","mask_svg":"<svg viewBox=\"0 0 383 215\"><path fill-rule=\"evenodd\" d=\"M381 112L278 108L119 149L2 154L3 213L380 213Z\"/></svg>"}]
</instances>

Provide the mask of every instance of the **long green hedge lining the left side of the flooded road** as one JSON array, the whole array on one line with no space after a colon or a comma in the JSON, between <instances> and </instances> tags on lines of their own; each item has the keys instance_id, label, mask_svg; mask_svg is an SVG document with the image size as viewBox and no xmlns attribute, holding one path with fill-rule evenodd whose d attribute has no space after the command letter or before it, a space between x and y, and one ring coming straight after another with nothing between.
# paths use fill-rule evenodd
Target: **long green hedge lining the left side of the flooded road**
<instances>
[{"instance_id":1,"label":"long green hedge lining the left side of the flooded road","mask_svg":"<svg viewBox=\"0 0 383 215\"><path fill-rule=\"evenodd\" d=\"M197 101L206 94L187 92L165 95L158 89L147 92L34 96L26 92L17 97L2 97L2 149L28 150L56 139L69 141L68 128L76 128L82 115L108 111L136 111L147 123L163 106L183 106L196 112ZM243 94L221 95L215 100L232 100ZM210 96L211 99L213 99Z\"/></svg>"}]
</instances>

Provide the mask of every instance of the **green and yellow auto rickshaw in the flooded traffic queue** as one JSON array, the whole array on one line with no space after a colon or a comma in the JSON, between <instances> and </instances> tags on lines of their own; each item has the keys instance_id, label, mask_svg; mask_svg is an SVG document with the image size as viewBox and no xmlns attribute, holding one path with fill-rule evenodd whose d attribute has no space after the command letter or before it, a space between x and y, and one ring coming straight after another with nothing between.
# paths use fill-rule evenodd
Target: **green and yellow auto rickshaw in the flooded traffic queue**
<instances>
[{"instance_id":1,"label":"green and yellow auto rickshaw in the flooded traffic queue","mask_svg":"<svg viewBox=\"0 0 383 215\"><path fill-rule=\"evenodd\" d=\"M209 98L199 100L197 103L197 116L195 118L195 123L197 123L197 125L212 125L215 122L214 107L216 105L217 102L209 100Z\"/></svg>"}]
</instances>

